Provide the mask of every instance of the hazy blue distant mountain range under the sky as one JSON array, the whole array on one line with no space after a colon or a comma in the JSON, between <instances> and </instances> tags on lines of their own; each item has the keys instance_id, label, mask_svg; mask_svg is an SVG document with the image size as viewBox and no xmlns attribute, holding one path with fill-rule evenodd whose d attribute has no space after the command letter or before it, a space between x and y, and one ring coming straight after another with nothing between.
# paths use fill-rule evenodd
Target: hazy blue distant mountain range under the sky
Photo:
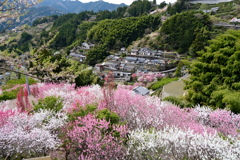
<instances>
[{"instance_id":1,"label":"hazy blue distant mountain range under the sky","mask_svg":"<svg viewBox=\"0 0 240 160\"><path fill-rule=\"evenodd\" d=\"M80 13L83 11L114 11L118 8L127 7L125 4L112 4L104 1L96 1L89 3L82 3L80 1L64 1L64 0L44 0L40 4L29 8L26 14L13 21L14 23L8 27L13 29L21 27L24 24L32 25L37 18L51 15L61 15L66 13ZM124 12L125 13L125 12ZM8 26L7 22L1 22L0 31Z\"/></svg>"}]
</instances>

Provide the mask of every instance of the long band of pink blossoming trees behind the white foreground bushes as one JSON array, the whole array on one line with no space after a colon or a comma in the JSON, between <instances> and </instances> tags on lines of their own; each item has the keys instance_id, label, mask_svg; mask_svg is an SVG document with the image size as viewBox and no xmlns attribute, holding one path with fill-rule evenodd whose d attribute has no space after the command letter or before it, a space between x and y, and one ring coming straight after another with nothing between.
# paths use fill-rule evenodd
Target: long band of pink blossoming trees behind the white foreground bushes
<instances>
[{"instance_id":1,"label":"long band of pink blossoming trees behind the white foreground bushes","mask_svg":"<svg viewBox=\"0 0 240 160\"><path fill-rule=\"evenodd\" d=\"M70 84L38 84L39 96L60 96L64 99L64 109L71 112L76 105L98 104L98 109L109 108L122 121L127 121L130 129L164 128L166 125L181 129L191 129L202 134L220 132L224 135L239 136L240 115L226 110L209 108L186 108L165 104L156 97L134 94L119 85L116 90L104 91L97 85L74 89ZM106 89L105 89L106 90ZM105 93L104 93L105 92Z\"/></svg>"}]
</instances>

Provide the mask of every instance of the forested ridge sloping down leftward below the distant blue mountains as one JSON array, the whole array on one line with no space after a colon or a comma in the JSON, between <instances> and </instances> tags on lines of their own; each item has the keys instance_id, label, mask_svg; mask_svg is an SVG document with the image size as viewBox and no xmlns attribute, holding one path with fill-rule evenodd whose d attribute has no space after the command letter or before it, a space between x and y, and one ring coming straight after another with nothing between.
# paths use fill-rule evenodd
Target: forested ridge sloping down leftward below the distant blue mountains
<instances>
[{"instance_id":1,"label":"forested ridge sloping down leftward below the distant blue mountains","mask_svg":"<svg viewBox=\"0 0 240 160\"><path fill-rule=\"evenodd\" d=\"M141 38L145 32L157 30L161 24L159 15L128 17L132 6L142 8L137 13L139 15L150 12L151 8L144 9L143 4L146 2L150 3L146 0L139 0L129 8L119 7L113 11L84 11L79 14L68 13L60 16L39 18L33 22L33 26L48 22L52 22L53 25L50 29L43 29L42 32L38 32L36 35L32 35L32 32L28 31L28 34L33 39L28 40L21 46L15 44L20 41L18 38L2 44L2 48L8 48L9 51L18 49L27 51L28 43L30 43L34 47L40 47L44 44L53 50L66 48L69 50L84 41L103 44L109 49L127 47L132 41ZM105 29L104 34L102 34L103 29Z\"/></svg>"}]
</instances>

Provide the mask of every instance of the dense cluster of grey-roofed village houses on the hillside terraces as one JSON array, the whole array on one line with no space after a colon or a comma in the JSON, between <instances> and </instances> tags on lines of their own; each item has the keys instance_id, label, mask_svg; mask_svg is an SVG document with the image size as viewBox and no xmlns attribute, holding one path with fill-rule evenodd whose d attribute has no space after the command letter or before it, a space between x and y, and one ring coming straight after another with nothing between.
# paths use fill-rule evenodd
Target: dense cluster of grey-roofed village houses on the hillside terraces
<instances>
[{"instance_id":1,"label":"dense cluster of grey-roofed village houses on the hillside terraces","mask_svg":"<svg viewBox=\"0 0 240 160\"><path fill-rule=\"evenodd\" d=\"M122 48L121 51L125 51L125 48ZM122 58L119 56L121 55L119 54L121 51L115 55L109 55L102 64L96 64L94 73L104 76L108 71L112 71L115 81L129 81L131 79L131 74L135 72L157 73L159 71L171 69L175 64L172 64L170 60L176 60L178 56L176 52L163 52L162 50L151 50L143 47L132 49L132 53L138 53L138 55Z\"/></svg>"}]
</instances>

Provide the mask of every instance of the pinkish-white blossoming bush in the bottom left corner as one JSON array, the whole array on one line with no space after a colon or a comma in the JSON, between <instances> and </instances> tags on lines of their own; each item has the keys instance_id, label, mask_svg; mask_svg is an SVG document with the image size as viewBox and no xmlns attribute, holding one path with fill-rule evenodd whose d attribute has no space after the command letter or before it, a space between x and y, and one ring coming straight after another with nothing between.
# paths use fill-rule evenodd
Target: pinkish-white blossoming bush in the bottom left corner
<instances>
[{"instance_id":1,"label":"pinkish-white blossoming bush in the bottom left corner","mask_svg":"<svg viewBox=\"0 0 240 160\"><path fill-rule=\"evenodd\" d=\"M0 155L3 157L42 155L60 145L57 129L66 123L65 113L41 110L34 115L18 113L0 127ZM0 156L0 157L1 157Z\"/></svg>"}]
</instances>

